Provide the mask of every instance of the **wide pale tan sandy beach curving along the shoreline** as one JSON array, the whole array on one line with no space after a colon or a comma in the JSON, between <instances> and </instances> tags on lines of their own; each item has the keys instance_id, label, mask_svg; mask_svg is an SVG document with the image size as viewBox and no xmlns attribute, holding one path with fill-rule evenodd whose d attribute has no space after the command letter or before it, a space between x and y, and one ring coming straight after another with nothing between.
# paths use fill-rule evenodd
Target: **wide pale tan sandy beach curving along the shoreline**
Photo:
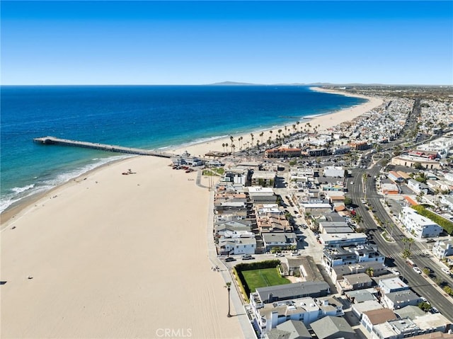
<instances>
[{"instance_id":1,"label":"wide pale tan sandy beach curving along the shoreline","mask_svg":"<svg viewBox=\"0 0 453 339\"><path fill-rule=\"evenodd\" d=\"M369 98L310 123L326 130L381 103ZM226 142L174 151L204 155ZM2 220L1 338L244 338L211 269L212 192L196 185L197 172L169 163L110 163Z\"/></svg>"}]
</instances>

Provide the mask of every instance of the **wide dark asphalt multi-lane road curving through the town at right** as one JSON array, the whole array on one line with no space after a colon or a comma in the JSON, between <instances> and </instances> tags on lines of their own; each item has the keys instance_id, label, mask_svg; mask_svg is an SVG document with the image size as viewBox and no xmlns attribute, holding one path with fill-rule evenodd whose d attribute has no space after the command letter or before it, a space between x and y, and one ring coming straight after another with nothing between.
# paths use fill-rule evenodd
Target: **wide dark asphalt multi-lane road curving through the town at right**
<instances>
[{"instance_id":1,"label":"wide dark asphalt multi-lane road curving through the town at right","mask_svg":"<svg viewBox=\"0 0 453 339\"><path fill-rule=\"evenodd\" d=\"M453 312L451 311L453 306L452 297L447 296L444 292L440 292L440 290L435 287L432 280L427 280L423 275L416 273L411 266L406 263L406 260L402 258L405 246L403 239L406 239L403 232L398 229L398 226L394 225L393 236L395 242L389 243L382 238L380 234L381 232L377 229L377 224L375 224L372 214L376 214L383 223L387 222L389 225L394 224L379 200L380 195L377 193L374 183L374 176L379 176L380 166L382 166L381 161L368 169L353 169L351 171L352 178L348 180L348 192L350 192L352 202L357 205L356 212L362 217L362 225L367 228L370 240L379 246L379 252L386 255L386 264L391 265L391 263L393 263L396 265L399 272L401 272L401 275L406 278L408 285L414 292L428 299L430 304L435 306L446 318L449 319L449 321L453 321ZM367 186L367 202L369 203L370 209L371 206L373 207L373 212L368 211L365 208L365 205L362 205L360 202L362 198L365 198L362 185L362 176L364 173L367 173L370 176L367 178L365 184ZM350 183L351 180L354 184ZM412 253L422 253L423 249L424 247L420 246L417 241L415 241L411 246ZM445 273L440 271L437 263L432 261L430 258L418 254L411 256L411 259L415 265L418 265L420 268L428 266L432 268L432 270L435 270L437 277L442 277L442 280L450 283L453 281L451 277L447 277Z\"/></svg>"}]
</instances>

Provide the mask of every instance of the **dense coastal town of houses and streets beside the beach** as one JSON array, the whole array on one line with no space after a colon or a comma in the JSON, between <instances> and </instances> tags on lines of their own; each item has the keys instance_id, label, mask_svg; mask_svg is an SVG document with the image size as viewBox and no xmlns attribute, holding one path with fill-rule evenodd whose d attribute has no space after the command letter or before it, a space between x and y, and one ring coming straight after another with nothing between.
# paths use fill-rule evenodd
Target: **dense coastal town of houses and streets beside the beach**
<instances>
[{"instance_id":1,"label":"dense coastal town of houses and streets beside the beach","mask_svg":"<svg viewBox=\"0 0 453 339\"><path fill-rule=\"evenodd\" d=\"M206 154L212 269L245 338L453 338L453 98L401 91Z\"/></svg>"}]
</instances>

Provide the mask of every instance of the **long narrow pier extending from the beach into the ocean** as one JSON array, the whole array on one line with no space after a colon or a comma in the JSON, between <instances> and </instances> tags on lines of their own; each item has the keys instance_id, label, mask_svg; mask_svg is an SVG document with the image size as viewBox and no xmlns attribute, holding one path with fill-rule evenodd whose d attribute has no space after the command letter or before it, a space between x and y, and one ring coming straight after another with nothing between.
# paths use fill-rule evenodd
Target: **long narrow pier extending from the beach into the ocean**
<instances>
[{"instance_id":1,"label":"long narrow pier extending from the beach into the ocean","mask_svg":"<svg viewBox=\"0 0 453 339\"><path fill-rule=\"evenodd\" d=\"M116 145L109 145L109 144L98 144L94 142L80 142L77 140L69 140L69 139L59 139L57 137L41 137L33 139L34 142L38 142L40 144L56 144L62 146L76 146L76 147L84 147L87 149L100 149L102 151L110 151L110 152L117 152L117 153L127 153L127 154L139 154L142 156L160 156L161 158L171 158L176 156L176 154L166 153L166 152L156 152L156 151L149 151L147 149L135 149L132 147L123 147L123 146L116 146Z\"/></svg>"}]
</instances>

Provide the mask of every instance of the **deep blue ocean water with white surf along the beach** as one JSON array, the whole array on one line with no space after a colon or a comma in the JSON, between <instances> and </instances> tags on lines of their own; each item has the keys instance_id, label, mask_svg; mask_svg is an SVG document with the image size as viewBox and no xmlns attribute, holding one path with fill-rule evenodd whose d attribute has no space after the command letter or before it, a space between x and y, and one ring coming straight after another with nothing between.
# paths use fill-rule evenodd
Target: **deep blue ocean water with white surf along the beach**
<instances>
[{"instance_id":1,"label":"deep blue ocean water with white surf along the beach","mask_svg":"<svg viewBox=\"0 0 453 339\"><path fill-rule=\"evenodd\" d=\"M42 146L52 135L162 149L289 125L365 100L305 86L1 86L0 211L123 157Z\"/></svg>"}]
</instances>

